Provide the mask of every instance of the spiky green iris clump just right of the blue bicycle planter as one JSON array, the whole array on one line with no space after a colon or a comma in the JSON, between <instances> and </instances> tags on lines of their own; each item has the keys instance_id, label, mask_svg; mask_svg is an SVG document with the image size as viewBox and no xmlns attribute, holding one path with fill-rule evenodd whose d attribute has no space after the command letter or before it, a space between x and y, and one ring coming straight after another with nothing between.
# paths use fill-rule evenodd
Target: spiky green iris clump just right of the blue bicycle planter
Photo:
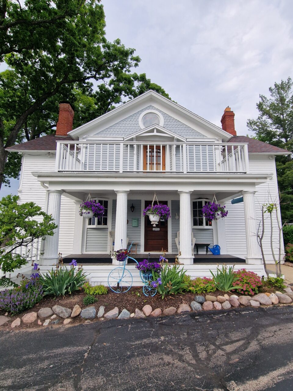
<instances>
[{"instance_id":1,"label":"spiky green iris clump just right of the blue bicycle planter","mask_svg":"<svg viewBox=\"0 0 293 391\"><path fill-rule=\"evenodd\" d=\"M184 269L179 269L179 265L165 265L160 274L155 271L152 272L153 281L156 281L159 277L161 278L162 283L157 285L157 292L161 294L162 299L167 295L183 291L186 287L186 283L183 281L185 273Z\"/></svg>"}]
</instances>

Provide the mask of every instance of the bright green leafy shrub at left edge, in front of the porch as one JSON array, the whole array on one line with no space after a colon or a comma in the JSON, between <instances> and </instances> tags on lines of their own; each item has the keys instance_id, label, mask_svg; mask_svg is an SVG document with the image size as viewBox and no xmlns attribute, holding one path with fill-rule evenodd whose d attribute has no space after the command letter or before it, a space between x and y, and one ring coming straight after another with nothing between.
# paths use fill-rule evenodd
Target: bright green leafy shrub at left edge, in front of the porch
<instances>
[{"instance_id":1,"label":"bright green leafy shrub at left edge, in front of the porch","mask_svg":"<svg viewBox=\"0 0 293 391\"><path fill-rule=\"evenodd\" d=\"M33 202L18 204L18 200L16 195L7 195L0 200L0 267L4 274L27 264L30 260L30 245L34 240L54 235L54 229L57 228L52 216L42 212L40 206ZM7 246L11 248L5 249ZM21 246L27 247L26 254L13 253ZM7 278L0 279L0 285L7 284Z\"/></svg>"}]
</instances>

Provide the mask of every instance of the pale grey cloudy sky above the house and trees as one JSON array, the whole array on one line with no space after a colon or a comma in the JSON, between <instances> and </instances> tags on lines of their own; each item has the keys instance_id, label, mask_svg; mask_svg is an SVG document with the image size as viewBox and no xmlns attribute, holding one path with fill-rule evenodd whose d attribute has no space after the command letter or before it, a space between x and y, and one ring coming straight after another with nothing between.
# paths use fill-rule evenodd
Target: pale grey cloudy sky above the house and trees
<instances>
[{"instance_id":1,"label":"pale grey cloudy sky above the house and trees","mask_svg":"<svg viewBox=\"0 0 293 391\"><path fill-rule=\"evenodd\" d=\"M259 94L292 75L291 0L103 0L109 40L120 38L181 106L221 127L228 105L238 135ZM2 186L0 196L16 192Z\"/></svg>"}]
</instances>

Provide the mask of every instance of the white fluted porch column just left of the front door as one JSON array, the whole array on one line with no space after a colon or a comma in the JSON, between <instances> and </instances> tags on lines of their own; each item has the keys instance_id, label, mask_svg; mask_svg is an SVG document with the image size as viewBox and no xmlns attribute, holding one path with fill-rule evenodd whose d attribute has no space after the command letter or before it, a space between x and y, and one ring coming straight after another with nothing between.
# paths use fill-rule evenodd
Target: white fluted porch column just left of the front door
<instances>
[{"instance_id":1,"label":"white fluted porch column just left of the front door","mask_svg":"<svg viewBox=\"0 0 293 391\"><path fill-rule=\"evenodd\" d=\"M127 194L126 190L117 190L117 203L116 203L116 223L115 223L115 243L114 251L126 248L127 243ZM119 265L120 262L113 258L113 265Z\"/></svg>"}]
</instances>

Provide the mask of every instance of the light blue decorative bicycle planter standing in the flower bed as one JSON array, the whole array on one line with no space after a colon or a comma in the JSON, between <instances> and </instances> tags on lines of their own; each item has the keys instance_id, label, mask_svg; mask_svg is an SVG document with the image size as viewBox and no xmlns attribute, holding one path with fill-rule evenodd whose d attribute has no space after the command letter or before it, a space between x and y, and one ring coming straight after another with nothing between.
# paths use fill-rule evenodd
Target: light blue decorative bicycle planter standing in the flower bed
<instances>
[{"instance_id":1,"label":"light blue decorative bicycle planter standing in the flower bed","mask_svg":"<svg viewBox=\"0 0 293 391\"><path fill-rule=\"evenodd\" d=\"M129 246L128 251L130 251L132 243ZM125 293L128 292L132 287L133 277L130 271L126 268L126 260L132 259L139 265L138 261L131 256L127 256L123 261L120 261L121 266L113 269L108 276L108 285L111 291L115 293ZM157 289L152 285L152 273L147 271L142 273L139 271L139 277L143 282L143 294L145 296L155 296Z\"/></svg>"}]
</instances>

